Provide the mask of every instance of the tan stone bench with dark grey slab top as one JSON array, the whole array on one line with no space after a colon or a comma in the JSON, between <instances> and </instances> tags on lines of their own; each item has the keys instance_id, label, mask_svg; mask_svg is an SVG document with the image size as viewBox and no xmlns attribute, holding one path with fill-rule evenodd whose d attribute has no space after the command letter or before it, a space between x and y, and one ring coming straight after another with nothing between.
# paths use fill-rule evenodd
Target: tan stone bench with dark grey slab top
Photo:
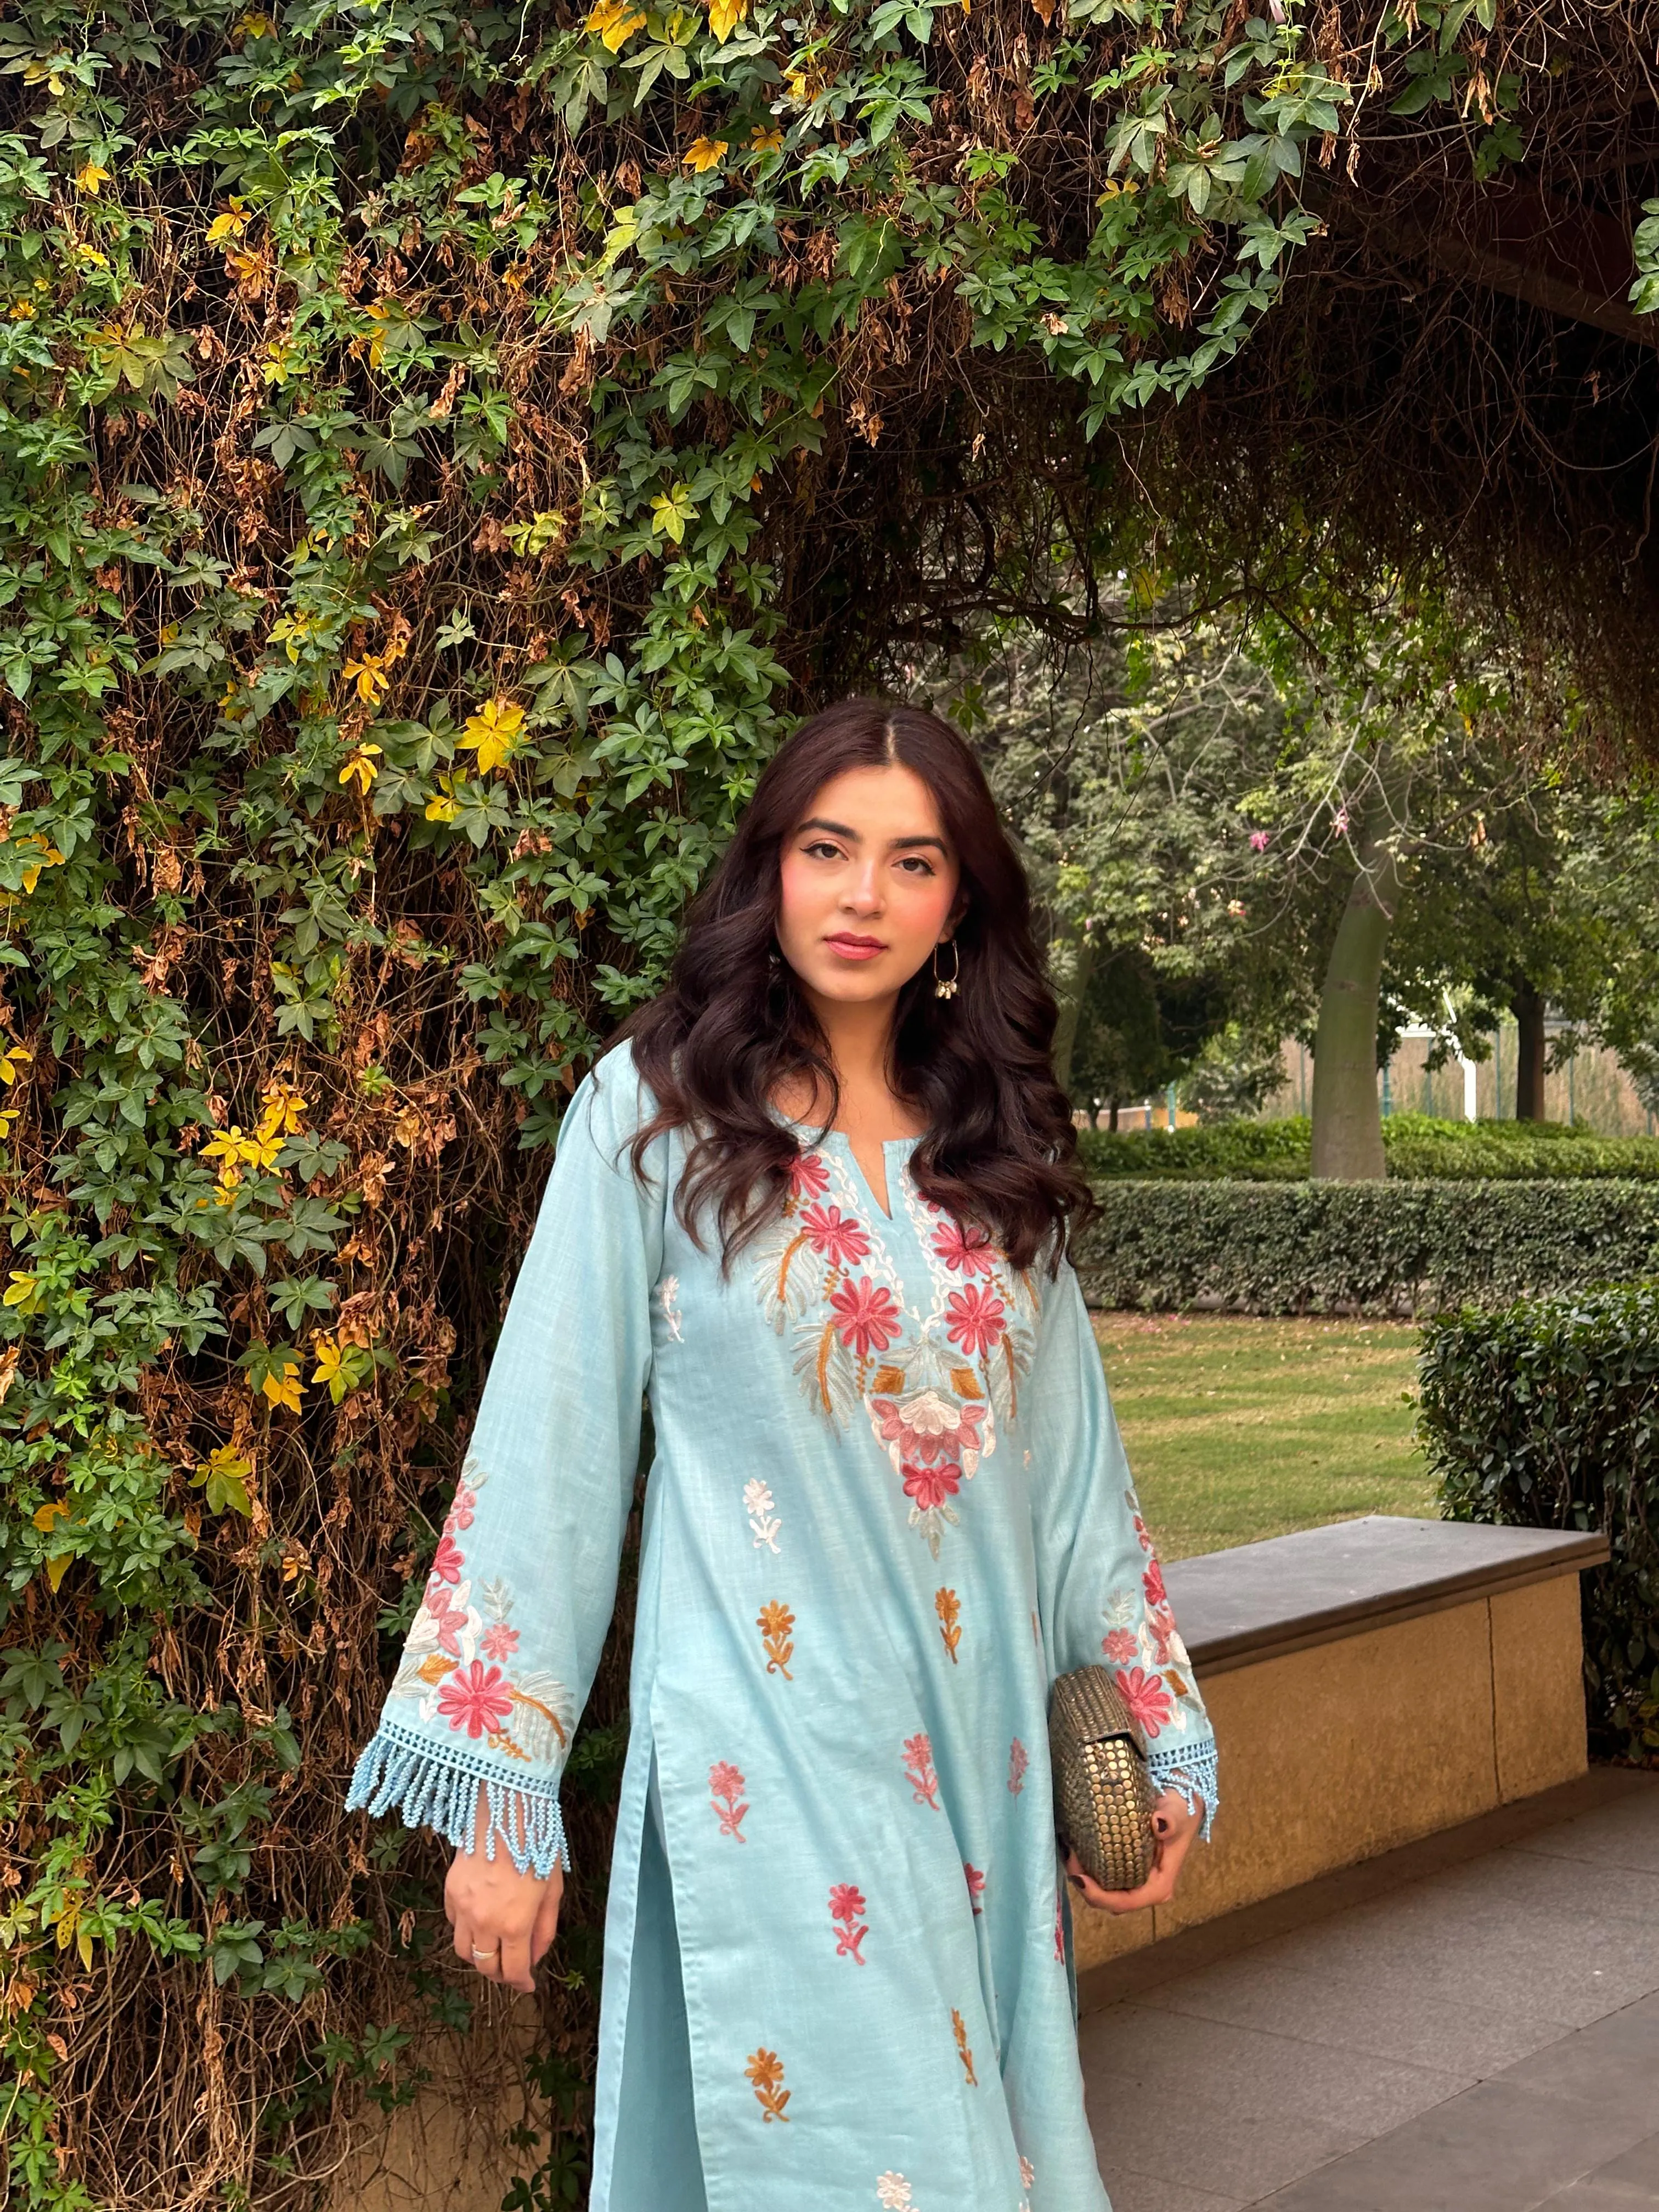
<instances>
[{"instance_id":1,"label":"tan stone bench with dark grey slab top","mask_svg":"<svg viewBox=\"0 0 1659 2212\"><path fill-rule=\"evenodd\" d=\"M1606 1555L1374 1513L1166 1566L1221 1814L1168 1909L1077 1907L1079 1969L1582 1774L1579 1573Z\"/></svg>"}]
</instances>

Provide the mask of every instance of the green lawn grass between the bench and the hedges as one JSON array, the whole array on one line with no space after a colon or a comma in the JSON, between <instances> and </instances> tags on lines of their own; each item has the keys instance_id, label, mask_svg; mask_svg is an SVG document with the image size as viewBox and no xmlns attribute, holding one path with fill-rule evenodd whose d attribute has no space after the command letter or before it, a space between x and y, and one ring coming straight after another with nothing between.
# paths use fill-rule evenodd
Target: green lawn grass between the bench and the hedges
<instances>
[{"instance_id":1,"label":"green lawn grass between the bench and the hedges","mask_svg":"<svg viewBox=\"0 0 1659 2212\"><path fill-rule=\"evenodd\" d=\"M1166 1559L1356 1513L1436 1515L1411 1442L1411 1323L1095 1314L1095 1334Z\"/></svg>"}]
</instances>

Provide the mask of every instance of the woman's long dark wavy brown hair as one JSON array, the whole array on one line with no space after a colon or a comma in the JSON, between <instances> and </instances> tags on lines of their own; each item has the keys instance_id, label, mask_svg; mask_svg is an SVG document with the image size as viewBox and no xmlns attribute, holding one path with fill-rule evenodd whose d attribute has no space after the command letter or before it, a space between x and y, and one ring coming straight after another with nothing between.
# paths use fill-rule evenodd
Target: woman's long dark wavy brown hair
<instances>
[{"instance_id":1,"label":"woman's long dark wavy brown hair","mask_svg":"<svg viewBox=\"0 0 1659 2212\"><path fill-rule=\"evenodd\" d=\"M768 1102L790 1077L841 1097L830 1046L794 969L779 956L785 838L814 796L849 768L909 768L933 794L962 872L956 998L925 964L898 993L889 1084L927 1121L911 1152L925 1197L989 1230L1015 1267L1046 1248L1055 1272L1093 1210L1077 1133L1055 1082L1055 1000L1031 936L1031 891L980 763L958 732L914 706L843 699L805 721L768 761L714 874L686 911L668 989L635 1009L606 1053L633 1040L657 1113L633 1139L692 1130L675 1210L701 1245L712 1206L721 1270L776 1217L799 1157ZM827 1124L827 1126L830 1126Z\"/></svg>"}]
</instances>

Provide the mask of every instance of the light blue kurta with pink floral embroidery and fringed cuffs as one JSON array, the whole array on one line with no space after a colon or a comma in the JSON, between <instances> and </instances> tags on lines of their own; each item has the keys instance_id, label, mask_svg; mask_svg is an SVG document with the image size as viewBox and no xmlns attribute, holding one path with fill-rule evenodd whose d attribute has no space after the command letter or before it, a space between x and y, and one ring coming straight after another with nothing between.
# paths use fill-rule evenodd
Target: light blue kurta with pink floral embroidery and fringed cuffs
<instances>
[{"instance_id":1,"label":"light blue kurta with pink floral embroidery and fringed cuffs","mask_svg":"<svg viewBox=\"0 0 1659 2212\"><path fill-rule=\"evenodd\" d=\"M626 1046L571 1102L349 1803L562 1856L648 1394L593 2212L1104 2212L1048 1686L1115 1668L1210 1807L1214 1743L1077 1279L832 1133L721 1283L646 1113Z\"/></svg>"}]
</instances>

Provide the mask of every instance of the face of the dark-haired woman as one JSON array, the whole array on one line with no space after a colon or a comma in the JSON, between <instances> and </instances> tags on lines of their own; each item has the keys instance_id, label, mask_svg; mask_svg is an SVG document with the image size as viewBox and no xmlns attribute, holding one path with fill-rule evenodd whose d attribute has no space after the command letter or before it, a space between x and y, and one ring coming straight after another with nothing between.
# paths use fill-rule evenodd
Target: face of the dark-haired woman
<instances>
[{"instance_id":1,"label":"face of the dark-haired woman","mask_svg":"<svg viewBox=\"0 0 1659 2212\"><path fill-rule=\"evenodd\" d=\"M779 949L810 993L894 998L956 927L960 869L909 768L849 768L783 841ZM949 973L947 956L947 973Z\"/></svg>"}]
</instances>

